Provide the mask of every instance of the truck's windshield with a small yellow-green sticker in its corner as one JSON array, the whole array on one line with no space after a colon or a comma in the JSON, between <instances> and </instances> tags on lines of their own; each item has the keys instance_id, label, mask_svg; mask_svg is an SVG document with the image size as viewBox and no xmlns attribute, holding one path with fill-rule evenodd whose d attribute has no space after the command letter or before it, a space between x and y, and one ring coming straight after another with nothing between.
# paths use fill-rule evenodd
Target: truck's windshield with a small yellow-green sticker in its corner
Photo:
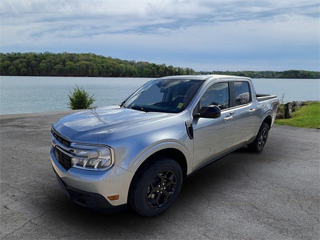
<instances>
[{"instance_id":1,"label":"truck's windshield with a small yellow-green sticker in its corner","mask_svg":"<svg viewBox=\"0 0 320 240\"><path fill-rule=\"evenodd\" d=\"M204 80L159 79L144 84L123 107L142 111L177 113L183 111Z\"/></svg>"}]
</instances>

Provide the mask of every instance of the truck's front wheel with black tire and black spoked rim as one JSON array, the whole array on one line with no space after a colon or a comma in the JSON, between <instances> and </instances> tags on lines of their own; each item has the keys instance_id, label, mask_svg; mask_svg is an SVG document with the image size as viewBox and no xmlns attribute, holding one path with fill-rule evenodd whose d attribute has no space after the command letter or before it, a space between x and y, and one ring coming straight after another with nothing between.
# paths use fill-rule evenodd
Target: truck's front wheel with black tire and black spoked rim
<instances>
[{"instance_id":1,"label":"truck's front wheel with black tire and black spoked rim","mask_svg":"<svg viewBox=\"0 0 320 240\"><path fill-rule=\"evenodd\" d=\"M155 216L177 198L183 174L180 165L169 157L154 157L142 165L130 184L129 202L138 214Z\"/></svg>"}]
</instances>

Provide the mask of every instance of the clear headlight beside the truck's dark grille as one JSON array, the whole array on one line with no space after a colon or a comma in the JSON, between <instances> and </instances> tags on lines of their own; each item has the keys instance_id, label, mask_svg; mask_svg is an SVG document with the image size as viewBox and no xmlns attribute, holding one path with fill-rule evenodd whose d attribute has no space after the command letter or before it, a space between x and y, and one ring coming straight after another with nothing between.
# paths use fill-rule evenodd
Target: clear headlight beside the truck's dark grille
<instances>
[{"instance_id":1,"label":"clear headlight beside the truck's dark grille","mask_svg":"<svg viewBox=\"0 0 320 240\"><path fill-rule=\"evenodd\" d=\"M114 163L113 149L103 145L70 143L72 166L87 170L106 170Z\"/></svg>"}]
</instances>

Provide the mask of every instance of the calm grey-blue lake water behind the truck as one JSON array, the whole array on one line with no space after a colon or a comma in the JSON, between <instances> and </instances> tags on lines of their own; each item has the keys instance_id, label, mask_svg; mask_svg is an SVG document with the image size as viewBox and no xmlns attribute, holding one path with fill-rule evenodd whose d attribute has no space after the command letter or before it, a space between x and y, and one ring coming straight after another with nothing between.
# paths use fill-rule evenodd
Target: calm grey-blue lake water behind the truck
<instances>
[{"instance_id":1,"label":"calm grey-blue lake water behind the truck","mask_svg":"<svg viewBox=\"0 0 320 240\"><path fill-rule=\"evenodd\" d=\"M94 94L94 105L120 103L152 78L0 76L0 114L68 109L68 93L75 84ZM252 79L257 93L284 101L320 100L320 79Z\"/></svg>"}]
</instances>

